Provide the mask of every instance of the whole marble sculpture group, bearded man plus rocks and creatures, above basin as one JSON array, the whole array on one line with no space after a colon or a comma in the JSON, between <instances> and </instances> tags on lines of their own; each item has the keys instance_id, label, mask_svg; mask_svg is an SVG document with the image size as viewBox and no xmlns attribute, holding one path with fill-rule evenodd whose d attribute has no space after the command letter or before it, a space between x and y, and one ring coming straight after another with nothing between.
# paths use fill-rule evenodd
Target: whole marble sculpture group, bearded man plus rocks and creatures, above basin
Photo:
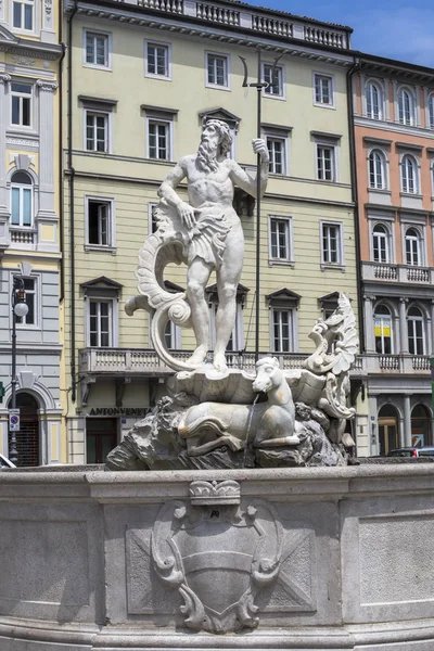
<instances>
[{"instance_id":1,"label":"whole marble sculpture group, bearded man plus rocks and creatures, above basin","mask_svg":"<svg viewBox=\"0 0 434 651\"><path fill-rule=\"evenodd\" d=\"M199 151L184 156L167 175L155 210L157 228L139 253L140 294L125 309L151 314L153 345L175 371L167 395L127 433L106 460L112 470L230 469L280 465L343 465L355 443L346 422L349 370L358 350L349 298L339 295L336 310L317 321L309 336L316 349L298 369L284 370L283 358L259 358L254 372L228 369L226 348L235 322L235 297L244 241L232 207L235 186L256 196L268 180L268 150L253 140L259 179L228 157L229 127L206 123ZM187 179L189 203L178 195ZM187 265L187 291L170 292L168 264ZM213 363L205 288L216 271L218 310ZM186 361L165 343L168 321L192 327L196 348Z\"/></svg>"}]
</instances>

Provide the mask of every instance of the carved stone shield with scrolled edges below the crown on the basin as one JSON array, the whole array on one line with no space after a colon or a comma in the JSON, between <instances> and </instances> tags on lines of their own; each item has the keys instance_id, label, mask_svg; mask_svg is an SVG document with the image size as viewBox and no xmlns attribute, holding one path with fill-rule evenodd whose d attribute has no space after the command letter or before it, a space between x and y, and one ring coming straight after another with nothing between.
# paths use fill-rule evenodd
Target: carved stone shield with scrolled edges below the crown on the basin
<instances>
[{"instance_id":1,"label":"carved stone shield with scrolled edges below the crown on the basin","mask_svg":"<svg viewBox=\"0 0 434 651\"><path fill-rule=\"evenodd\" d=\"M151 549L159 578L179 590L189 628L255 628L255 597L279 574L282 527L263 500L246 508L169 501L159 510Z\"/></svg>"}]
</instances>

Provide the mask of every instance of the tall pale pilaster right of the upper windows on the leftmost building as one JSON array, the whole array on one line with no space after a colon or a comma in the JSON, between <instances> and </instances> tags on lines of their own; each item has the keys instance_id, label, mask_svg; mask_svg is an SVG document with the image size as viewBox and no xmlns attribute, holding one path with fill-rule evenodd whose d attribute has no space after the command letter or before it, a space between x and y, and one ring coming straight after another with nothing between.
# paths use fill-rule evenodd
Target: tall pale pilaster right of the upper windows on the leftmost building
<instances>
[{"instance_id":1,"label":"tall pale pilaster right of the upper windows on the leftmost building","mask_svg":"<svg viewBox=\"0 0 434 651\"><path fill-rule=\"evenodd\" d=\"M38 80L39 89L39 215L54 217L54 92L55 81Z\"/></svg>"}]
</instances>

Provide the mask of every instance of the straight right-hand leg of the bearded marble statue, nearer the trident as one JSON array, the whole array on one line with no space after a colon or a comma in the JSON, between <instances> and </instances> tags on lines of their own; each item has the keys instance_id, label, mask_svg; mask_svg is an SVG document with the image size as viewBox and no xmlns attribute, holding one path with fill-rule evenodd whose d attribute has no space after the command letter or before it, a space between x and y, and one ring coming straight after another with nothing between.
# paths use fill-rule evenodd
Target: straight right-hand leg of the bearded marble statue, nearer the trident
<instances>
[{"instance_id":1,"label":"straight right-hand leg of the bearded marble statue, nearer the trident","mask_svg":"<svg viewBox=\"0 0 434 651\"><path fill-rule=\"evenodd\" d=\"M235 327L237 288L243 270L244 238L241 225L232 227L226 239L221 267L217 272L218 308L216 315L216 347L214 367L226 370L225 352Z\"/></svg>"}]
</instances>

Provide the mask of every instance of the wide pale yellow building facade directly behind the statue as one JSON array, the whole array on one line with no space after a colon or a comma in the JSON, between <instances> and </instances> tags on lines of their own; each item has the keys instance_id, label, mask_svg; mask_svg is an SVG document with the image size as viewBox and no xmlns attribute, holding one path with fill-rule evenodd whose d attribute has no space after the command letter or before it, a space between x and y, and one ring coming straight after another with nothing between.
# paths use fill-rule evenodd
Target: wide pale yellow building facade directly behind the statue
<instances>
[{"instance_id":1,"label":"wide pale yellow building facade directly behind the statue","mask_svg":"<svg viewBox=\"0 0 434 651\"><path fill-rule=\"evenodd\" d=\"M336 291L350 295L357 312L350 30L229 2L78 0L65 5L64 34L68 461L101 462L170 374L152 349L148 315L124 311L137 293L138 251L152 231L158 186L196 151L210 117L227 122L231 155L255 169L257 91L243 87L240 58L255 81L258 47L261 76L271 81L261 104L270 178L260 221L260 350L296 368ZM229 363L252 368L255 209L239 190L234 205L246 253ZM183 288L186 270L170 269L167 280ZM190 331L167 336L179 355L193 348Z\"/></svg>"}]
</instances>

